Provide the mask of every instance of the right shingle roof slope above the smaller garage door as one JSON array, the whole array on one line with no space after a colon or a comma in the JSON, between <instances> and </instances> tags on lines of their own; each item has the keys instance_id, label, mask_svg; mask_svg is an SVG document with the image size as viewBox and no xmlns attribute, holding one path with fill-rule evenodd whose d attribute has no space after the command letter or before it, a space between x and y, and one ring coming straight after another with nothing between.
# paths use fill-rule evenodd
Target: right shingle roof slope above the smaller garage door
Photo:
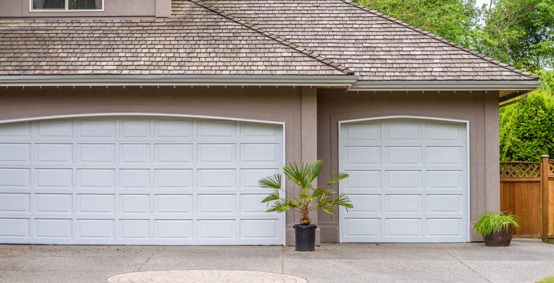
<instances>
[{"instance_id":1,"label":"right shingle roof slope above the smaller garage door","mask_svg":"<svg viewBox=\"0 0 554 283\"><path fill-rule=\"evenodd\" d=\"M348 0L208 3L356 71L362 81L538 80Z\"/></svg>"}]
</instances>

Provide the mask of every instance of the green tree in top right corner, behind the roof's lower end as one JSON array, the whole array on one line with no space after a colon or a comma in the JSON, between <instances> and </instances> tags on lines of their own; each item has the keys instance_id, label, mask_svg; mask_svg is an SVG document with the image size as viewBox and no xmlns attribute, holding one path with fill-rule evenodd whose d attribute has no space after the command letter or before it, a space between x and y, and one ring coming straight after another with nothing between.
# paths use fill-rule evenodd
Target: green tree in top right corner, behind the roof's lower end
<instances>
[{"instance_id":1,"label":"green tree in top right corner, behind the roof's lower end","mask_svg":"<svg viewBox=\"0 0 554 283\"><path fill-rule=\"evenodd\" d=\"M491 0L470 48L535 71L554 67L554 0Z\"/></svg>"}]
</instances>

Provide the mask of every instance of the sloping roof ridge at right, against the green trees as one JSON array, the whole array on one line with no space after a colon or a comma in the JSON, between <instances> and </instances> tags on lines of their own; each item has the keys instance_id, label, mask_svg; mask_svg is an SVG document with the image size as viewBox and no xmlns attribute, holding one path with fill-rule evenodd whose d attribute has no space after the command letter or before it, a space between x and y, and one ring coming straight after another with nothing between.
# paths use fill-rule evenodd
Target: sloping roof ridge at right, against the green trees
<instances>
[{"instance_id":1,"label":"sloping roof ridge at right, against the green trees","mask_svg":"<svg viewBox=\"0 0 554 283\"><path fill-rule=\"evenodd\" d=\"M408 23L406 23L406 22L403 22L402 20L393 18L393 17L391 17L391 16L389 16L389 15L383 14L383 13L381 13L381 12L378 12L378 11L376 11L376 10L373 10L373 9L371 9L371 8L368 8L368 7L366 7L366 6L363 6L362 4L356 3L356 2L354 2L354 1L352 1L352 0L338 0L338 1L345 2L346 4L349 4L349 5L354 6L354 7L356 7L356 8L360 8L360 9L362 9L363 11L370 12L370 13L372 13L372 14L377 15L378 17L381 17L381 18L385 18L385 19L387 19L387 20L390 20L391 22L394 22L394 23L397 23L397 24L401 24L401 25L403 25L403 26L406 27L406 28L415 30L416 32L422 33L422 34L424 34L424 35L427 35L427 36L429 36L430 38L437 39L437 40L439 40L439 41L442 41L443 43L446 43L446 44L448 44L448 45L454 46L455 48L464 50L464 51L466 51L466 52L468 52L468 53L471 53L471 54L473 54L473 55L475 55L475 56L480 57L481 59L484 59L484 60L486 60L486 61L492 62L493 64L496 64L496 65L499 65L499 66L501 66L501 67L504 67L504 68L506 68L506 69L508 69L508 70L510 70L510 71L514 71L514 72L516 72L516 73L519 73L520 75L524 75L524 76L530 77L531 79L534 79L535 81L538 81L538 79L540 78L540 77L538 77L538 76L535 76L535 75L530 74L530 73L528 73L528 72L525 72L525 71L523 71L523 70L516 69L515 67L512 67L512 66L510 66L510 65L508 65L508 64L505 64L505 63L502 63L502 62L500 62L500 61L498 61L498 60L495 60L495 59L493 59L493 58L491 58L491 57L489 57L489 56L486 56L485 54L481 54L481 53L479 53L479 52L477 52L477 51L475 51L475 50L473 50L473 49L466 48L466 47L463 46L463 45L460 45L460 44L454 43L453 41L450 41L450 40L448 40L448 39L442 38L442 37L440 37L440 36L438 36L438 35L436 35L436 34L432 34L432 33L430 33L430 32L426 32L425 30L420 29L420 28L418 28L418 27L416 27L416 26L414 26L414 25L408 24Z\"/></svg>"}]
</instances>

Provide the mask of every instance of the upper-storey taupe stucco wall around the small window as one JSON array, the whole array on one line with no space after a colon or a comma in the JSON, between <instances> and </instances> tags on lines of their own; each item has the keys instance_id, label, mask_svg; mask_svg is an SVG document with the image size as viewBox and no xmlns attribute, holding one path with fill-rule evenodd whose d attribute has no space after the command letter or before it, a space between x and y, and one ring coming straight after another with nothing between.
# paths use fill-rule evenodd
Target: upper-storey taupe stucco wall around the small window
<instances>
[{"instance_id":1,"label":"upper-storey taupe stucco wall around the small window","mask_svg":"<svg viewBox=\"0 0 554 283\"><path fill-rule=\"evenodd\" d=\"M104 0L104 12L30 12L29 0L2 0L0 1L0 17L155 16L156 1L163 0ZM162 3L168 3L171 7L171 2L166 2Z\"/></svg>"}]
</instances>

